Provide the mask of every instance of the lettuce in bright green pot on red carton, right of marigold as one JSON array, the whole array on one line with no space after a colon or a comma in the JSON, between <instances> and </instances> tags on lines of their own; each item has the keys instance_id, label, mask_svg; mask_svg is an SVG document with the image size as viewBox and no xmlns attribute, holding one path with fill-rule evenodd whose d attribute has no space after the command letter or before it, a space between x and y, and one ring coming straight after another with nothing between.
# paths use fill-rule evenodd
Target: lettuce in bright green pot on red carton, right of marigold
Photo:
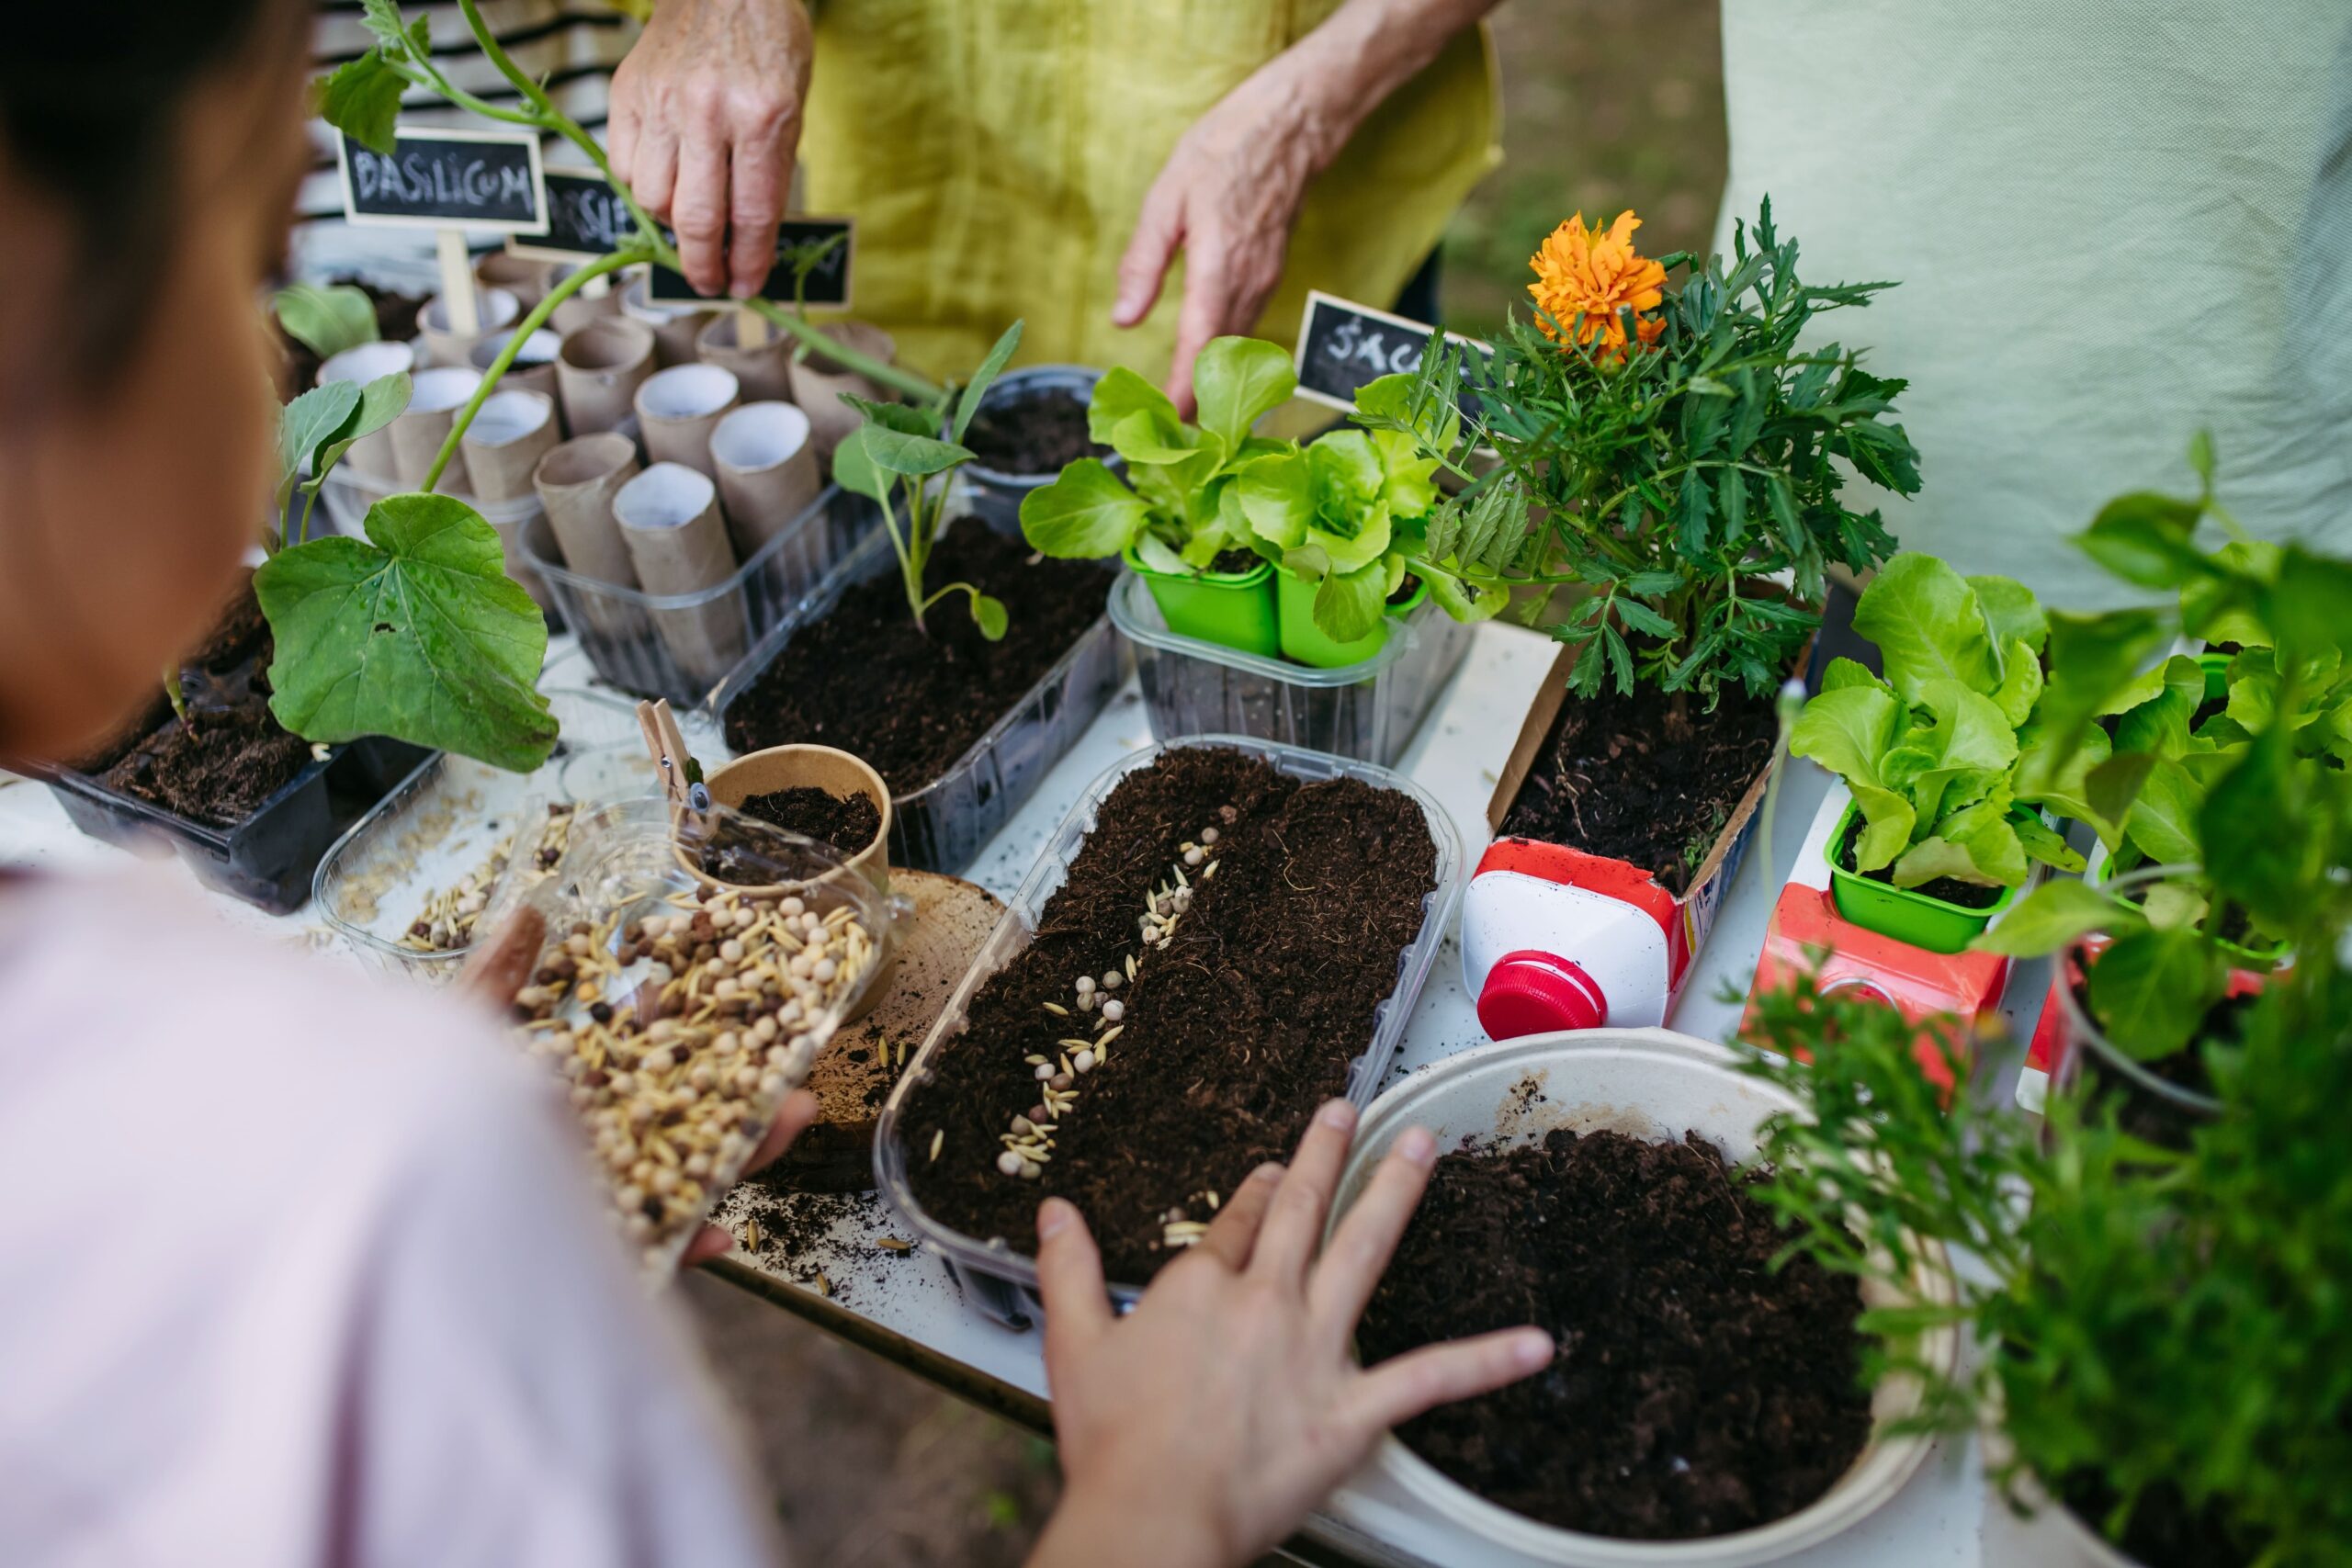
<instances>
[{"instance_id":1,"label":"lettuce in bright green pot on red carton, right of marigold","mask_svg":"<svg viewBox=\"0 0 2352 1568\"><path fill-rule=\"evenodd\" d=\"M1884 679L1832 661L1790 729L1790 752L1853 792L1828 846L1830 896L1858 926L1959 952L2034 863L2082 870L2039 806L2079 797L2105 757L2084 748L2051 788L2020 788L2020 762L2044 745L2032 717L2049 637L2025 585L1903 552L1863 592L1853 630L1877 644Z\"/></svg>"}]
</instances>

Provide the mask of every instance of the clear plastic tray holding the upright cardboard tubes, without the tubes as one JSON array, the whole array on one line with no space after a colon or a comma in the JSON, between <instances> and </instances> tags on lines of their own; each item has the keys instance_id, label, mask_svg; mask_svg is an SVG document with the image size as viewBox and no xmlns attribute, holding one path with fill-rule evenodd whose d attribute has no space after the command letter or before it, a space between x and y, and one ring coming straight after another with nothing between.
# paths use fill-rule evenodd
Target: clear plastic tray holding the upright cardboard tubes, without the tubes
<instances>
[{"instance_id":1,"label":"clear plastic tray holding the upright cardboard tubes, without the tubes","mask_svg":"<svg viewBox=\"0 0 2352 1568\"><path fill-rule=\"evenodd\" d=\"M659 616L724 604L741 618L743 646L753 646L788 621L809 592L821 592L828 574L861 538L880 538L880 522L882 512L870 501L828 484L807 512L760 545L734 576L701 592L644 592L567 569L543 512L524 524L522 555L548 585L555 609L579 635L597 675L640 696L701 703L710 689L680 668L661 637Z\"/></svg>"}]
</instances>

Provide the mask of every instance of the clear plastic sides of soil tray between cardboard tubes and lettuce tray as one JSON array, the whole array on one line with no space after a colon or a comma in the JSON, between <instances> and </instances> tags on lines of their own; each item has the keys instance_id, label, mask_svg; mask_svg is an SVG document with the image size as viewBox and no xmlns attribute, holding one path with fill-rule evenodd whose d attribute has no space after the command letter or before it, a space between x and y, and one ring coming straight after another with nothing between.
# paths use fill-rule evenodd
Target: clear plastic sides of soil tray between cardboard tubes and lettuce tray
<instances>
[{"instance_id":1,"label":"clear plastic sides of soil tray between cardboard tubes and lettuce tray","mask_svg":"<svg viewBox=\"0 0 2352 1568\"><path fill-rule=\"evenodd\" d=\"M856 583L896 571L889 534L875 529L826 576L776 630L760 639L720 689L710 693L710 717L720 731L727 710L767 672L793 635L833 614ZM1108 583L1108 574L1105 574ZM924 872L962 872L978 858L1037 783L1068 755L1127 679L1120 635L1101 616L1037 684L1014 703L946 773L920 790L891 797L889 863Z\"/></svg>"}]
</instances>

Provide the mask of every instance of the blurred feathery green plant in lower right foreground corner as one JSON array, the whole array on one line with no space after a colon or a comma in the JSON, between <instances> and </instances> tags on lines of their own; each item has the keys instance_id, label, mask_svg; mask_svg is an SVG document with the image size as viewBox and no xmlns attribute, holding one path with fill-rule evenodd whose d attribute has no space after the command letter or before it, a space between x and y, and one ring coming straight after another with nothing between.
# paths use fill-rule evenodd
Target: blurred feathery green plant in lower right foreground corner
<instances>
[{"instance_id":1,"label":"blurred feathery green plant in lower right foreground corner","mask_svg":"<svg viewBox=\"0 0 2352 1568\"><path fill-rule=\"evenodd\" d=\"M1973 1091L1952 1020L1922 1034L1809 980L1759 994L1748 1037L1771 1051L1750 1070L1802 1105L1766 1124L1752 1187L1792 1251L1898 1286L1919 1244L1976 1260L1955 1305L1863 1319L1889 1345L1940 1324L1980 1345L1957 1378L1875 1356L1870 1378L1924 1378L1915 1427L1997 1420L2009 1495L2027 1505L2039 1481L2126 1552L2169 1526L2223 1568L2352 1556L2352 1164L2336 1110L2352 1095L2352 985L2333 945L2253 1006L2216 1063L2225 1110L2183 1152L2074 1091L2046 1124L2025 1117Z\"/></svg>"}]
</instances>

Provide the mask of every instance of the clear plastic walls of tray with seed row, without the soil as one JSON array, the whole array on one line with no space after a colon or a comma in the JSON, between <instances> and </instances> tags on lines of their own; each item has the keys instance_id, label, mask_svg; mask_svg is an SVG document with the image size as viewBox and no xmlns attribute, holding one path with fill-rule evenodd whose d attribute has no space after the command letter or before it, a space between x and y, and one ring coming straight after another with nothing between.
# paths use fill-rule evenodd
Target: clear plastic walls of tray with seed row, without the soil
<instances>
[{"instance_id":1,"label":"clear plastic walls of tray with seed row, without the soil","mask_svg":"<svg viewBox=\"0 0 2352 1568\"><path fill-rule=\"evenodd\" d=\"M875 1124L875 1185L882 1190L882 1197L908 1225L915 1227L924 1248L948 1265L948 1272L955 1274L964 1295L988 1316L1011 1328L1028 1328L1037 1321L1037 1316L1042 1316L1042 1305L1037 1300L1037 1262L1016 1253L1004 1241L976 1241L962 1232L948 1229L922 1211L922 1204L915 1201L915 1190L908 1185L908 1157L898 1138L898 1119L906 1114L908 1093L929 1081L931 1063L957 1034L962 1034L964 1009L971 1006L974 992L978 992L993 973L1004 969L1023 947L1030 945L1030 936L1044 919L1047 903L1068 879L1070 860L1077 858L1087 835L1094 832L1101 806L1117 783L1136 769L1152 766L1167 752L1192 745L1228 745L1237 752L1261 757L1294 778L1359 778L1383 790L1397 790L1421 806L1421 816L1430 827L1430 842L1437 846L1437 886L1421 900L1421 931L1414 936L1411 945L1397 954L1397 990L1392 990L1374 1009L1371 1039L1364 1044L1364 1051L1348 1063L1348 1098L1355 1100L1357 1107L1371 1105L1374 1095L1381 1091L1388 1063L1397 1056L1397 1044L1404 1039L1404 1025L1414 1018L1414 1004L1421 1001L1421 987L1428 983L1430 969L1437 964L1437 950L1444 945L1446 931L1454 929L1454 910L1461 903L1463 891L1461 837L1454 832L1454 820L1446 816L1444 806L1439 806L1428 790L1402 773L1390 773L1383 766L1352 762L1348 757L1329 757L1296 745L1277 745L1272 741L1256 741L1249 736L1185 736L1181 741L1162 741L1122 757L1094 783L1089 783L1077 797L1077 804L1070 806L1070 816L1061 820L1054 837L1049 837L1044 849L1037 851L1037 865L1033 865L1030 875L1021 879L1021 891L1004 903L1004 919L1000 919L997 929L988 933L988 943L981 945L971 969L964 971L955 994L948 997L948 1004L938 1013L938 1023L931 1025L931 1032L922 1041L922 1051L915 1053L915 1063L898 1074L898 1086L891 1088L889 1103L882 1107L882 1119ZM1110 1295L1124 1312L1141 1300L1143 1288L1115 1284L1110 1286Z\"/></svg>"}]
</instances>

